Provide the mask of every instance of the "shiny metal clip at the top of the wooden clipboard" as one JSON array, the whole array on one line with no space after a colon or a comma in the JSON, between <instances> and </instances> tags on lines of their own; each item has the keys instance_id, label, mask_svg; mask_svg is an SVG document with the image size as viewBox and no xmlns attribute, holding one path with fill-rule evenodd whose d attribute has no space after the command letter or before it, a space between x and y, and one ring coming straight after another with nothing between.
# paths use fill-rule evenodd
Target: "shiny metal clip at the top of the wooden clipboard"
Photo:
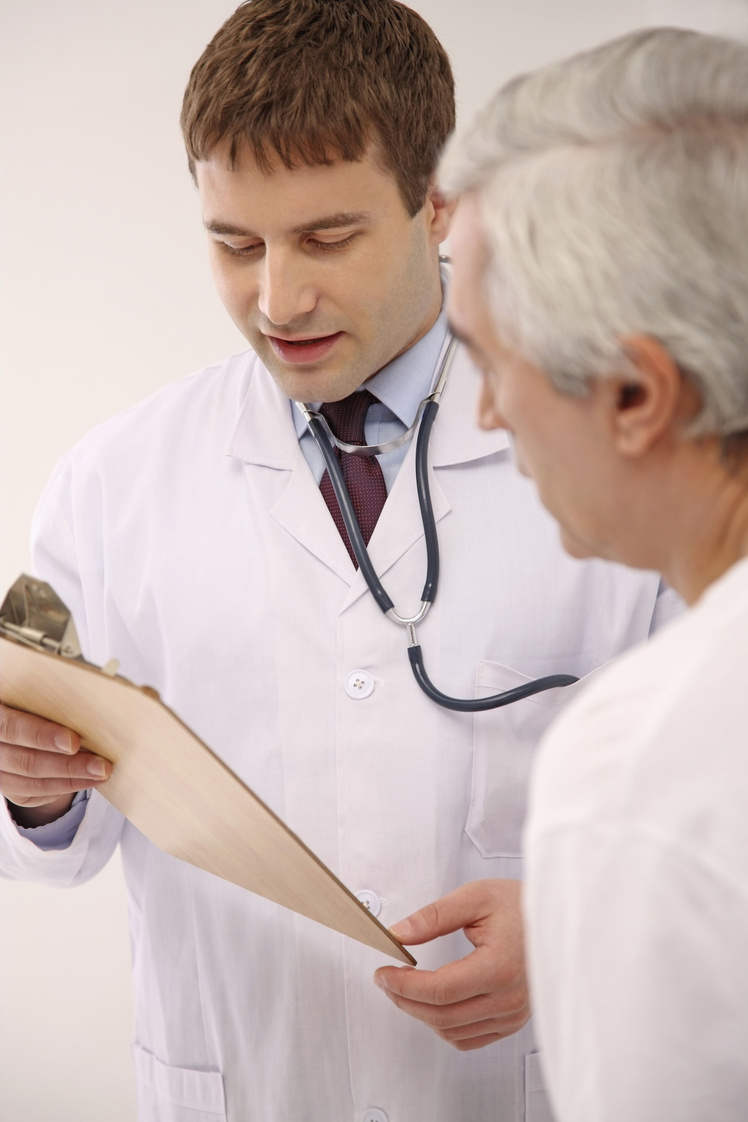
<instances>
[{"instance_id":1,"label":"shiny metal clip at the top of the wooden clipboard","mask_svg":"<svg viewBox=\"0 0 748 1122\"><path fill-rule=\"evenodd\" d=\"M83 659L70 610L50 585L25 573L2 601L0 634L64 659Z\"/></svg>"}]
</instances>

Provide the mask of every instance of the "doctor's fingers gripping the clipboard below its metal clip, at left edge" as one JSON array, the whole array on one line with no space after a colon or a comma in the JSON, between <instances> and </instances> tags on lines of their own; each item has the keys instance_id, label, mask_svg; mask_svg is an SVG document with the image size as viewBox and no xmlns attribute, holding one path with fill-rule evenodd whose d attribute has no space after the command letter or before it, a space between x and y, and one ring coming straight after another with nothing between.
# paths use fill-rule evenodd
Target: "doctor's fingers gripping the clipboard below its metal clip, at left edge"
<instances>
[{"instance_id":1,"label":"doctor's fingers gripping the clipboard below its metal clip, at left edge","mask_svg":"<svg viewBox=\"0 0 748 1122\"><path fill-rule=\"evenodd\" d=\"M33 714L0 706L0 790L9 802L41 807L98 787L112 765L80 752L76 733Z\"/></svg>"}]
</instances>

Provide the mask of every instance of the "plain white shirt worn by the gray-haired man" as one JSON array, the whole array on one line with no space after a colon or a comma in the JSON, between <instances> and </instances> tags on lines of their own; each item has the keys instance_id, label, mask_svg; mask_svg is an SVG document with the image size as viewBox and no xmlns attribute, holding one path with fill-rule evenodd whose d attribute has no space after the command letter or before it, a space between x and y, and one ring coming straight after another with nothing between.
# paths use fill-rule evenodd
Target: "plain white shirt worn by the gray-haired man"
<instances>
[{"instance_id":1,"label":"plain white shirt worn by the gray-haired man","mask_svg":"<svg viewBox=\"0 0 748 1122\"><path fill-rule=\"evenodd\" d=\"M528 959L560 1122L748 1118L748 559L544 738Z\"/></svg>"}]
</instances>

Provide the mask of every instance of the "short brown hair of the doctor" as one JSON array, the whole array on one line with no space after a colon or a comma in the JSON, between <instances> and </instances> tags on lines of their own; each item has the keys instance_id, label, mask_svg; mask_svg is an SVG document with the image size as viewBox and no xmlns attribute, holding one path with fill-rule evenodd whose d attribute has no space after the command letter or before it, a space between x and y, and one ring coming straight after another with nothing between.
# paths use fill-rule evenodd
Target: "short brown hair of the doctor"
<instances>
[{"instance_id":1,"label":"short brown hair of the doctor","mask_svg":"<svg viewBox=\"0 0 748 1122\"><path fill-rule=\"evenodd\" d=\"M396 0L247 0L193 67L182 105L190 171L229 141L268 172L361 159L370 142L410 215L454 128L454 82L428 25Z\"/></svg>"}]
</instances>

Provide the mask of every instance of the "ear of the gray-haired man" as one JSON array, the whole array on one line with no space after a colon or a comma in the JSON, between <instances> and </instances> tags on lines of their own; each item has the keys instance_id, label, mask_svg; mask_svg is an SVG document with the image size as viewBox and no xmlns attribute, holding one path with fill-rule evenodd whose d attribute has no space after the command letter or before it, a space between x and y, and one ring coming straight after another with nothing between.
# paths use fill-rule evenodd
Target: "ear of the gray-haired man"
<instances>
[{"instance_id":1,"label":"ear of the gray-haired man","mask_svg":"<svg viewBox=\"0 0 748 1122\"><path fill-rule=\"evenodd\" d=\"M699 411L700 398L656 339L629 335L622 343L632 369L602 379L601 386L609 395L618 451L638 459L664 440L680 440L684 425Z\"/></svg>"}]
</instances>

